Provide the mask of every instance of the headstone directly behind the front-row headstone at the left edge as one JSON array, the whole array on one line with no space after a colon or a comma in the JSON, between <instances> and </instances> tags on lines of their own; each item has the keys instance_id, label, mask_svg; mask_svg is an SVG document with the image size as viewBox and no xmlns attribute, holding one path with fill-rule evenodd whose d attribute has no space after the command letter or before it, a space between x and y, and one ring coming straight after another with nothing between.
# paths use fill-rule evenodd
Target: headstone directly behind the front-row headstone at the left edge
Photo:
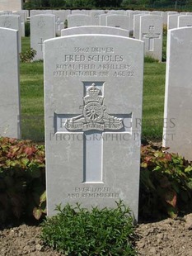
<instances>
[{"instance_id":1,"label":"headstone directly behind the front-row headstone at the left edge","mask_svg":"<svg viewBox=\"0 0 192 256\"><path fill-rule=\"evenodd\" d=\"M18 31L19 52L21 52L21 17L19 15L1 15L0 27L10 28Z\"/></svg>"}]
</instances>

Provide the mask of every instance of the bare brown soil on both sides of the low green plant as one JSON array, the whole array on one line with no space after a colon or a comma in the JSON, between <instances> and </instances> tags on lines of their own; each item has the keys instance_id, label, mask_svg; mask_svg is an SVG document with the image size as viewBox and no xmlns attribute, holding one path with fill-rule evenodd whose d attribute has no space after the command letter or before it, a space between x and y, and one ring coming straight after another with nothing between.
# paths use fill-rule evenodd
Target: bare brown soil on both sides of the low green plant
<instances>
[{"instance_id":1,"label":"bare brown soil on both sides of the low green plant","mask_svg":"<svg viewBox=\"0 0 192 256\"><path fill-rule=\"evenodd\" d=\"M136 248L140 256L191 256L192 214L176 220L136 226ZM9 225L0 230L1 256L57 256L62 255L44 247L40 240L40 226Z\"/></svg>"}]
</instances>

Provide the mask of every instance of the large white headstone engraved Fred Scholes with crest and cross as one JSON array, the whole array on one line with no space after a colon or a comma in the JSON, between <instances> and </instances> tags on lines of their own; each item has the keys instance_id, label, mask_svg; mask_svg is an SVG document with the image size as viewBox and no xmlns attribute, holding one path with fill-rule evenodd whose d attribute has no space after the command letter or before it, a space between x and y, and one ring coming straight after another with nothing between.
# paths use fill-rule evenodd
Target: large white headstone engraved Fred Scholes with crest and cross
<instances>
[{"instance_id":1,"label":"large white headstone engraved Fred Scholes with crest and cross","mask_svg":"<svg viewBox=\"0 0 192 256\"><path fill-rule=\"evenodd\" d=\"M143 42L75 35L44 42L48 216L115 206L138 218Z\"/></svg>"}]
</instances>

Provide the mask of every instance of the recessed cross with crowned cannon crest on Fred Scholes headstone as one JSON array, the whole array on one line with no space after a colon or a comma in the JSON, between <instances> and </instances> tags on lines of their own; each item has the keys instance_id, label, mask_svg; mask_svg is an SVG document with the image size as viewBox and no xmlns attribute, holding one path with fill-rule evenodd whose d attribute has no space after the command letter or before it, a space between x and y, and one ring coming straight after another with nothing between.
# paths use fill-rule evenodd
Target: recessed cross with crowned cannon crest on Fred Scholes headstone
<instances>
[{"instance_id":1,"label":"recessed cross with crowned cannon crest on Fred Scholes headstone","mask_svg":"<svg viewBox=\"0 0 192 256\"><path fill-rule=\"evenodd\" d=\"M84 83L82 114L55 114L54 127L64 132L82 131L83 136L83 183L103 183L104 135L126 130L124 122L131 122L132 113L112 116L104 103L104 82ZM130 126L128 127L130 128Z\"/></svg>"}]
</instances>

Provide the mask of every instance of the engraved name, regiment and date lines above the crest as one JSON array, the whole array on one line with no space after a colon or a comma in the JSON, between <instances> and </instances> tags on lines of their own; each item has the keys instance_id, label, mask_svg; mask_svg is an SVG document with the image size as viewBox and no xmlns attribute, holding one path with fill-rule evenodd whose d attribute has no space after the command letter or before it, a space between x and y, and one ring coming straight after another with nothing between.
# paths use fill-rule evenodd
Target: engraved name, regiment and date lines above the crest
<instances>
[{"instance_id":1,"label":"engraved name, regiment and date lines above the crest","mask_svg":"<svg viewBox=\"0 0 192 256\"><path fill-rule=\"evenodd\" d=\"M111 73L112 72L112 73ZM75 47L73 54L63 55L56 64L54 77L133 77L134 71L123 55L112 47Z\"/></svg>"}]
</instances>

